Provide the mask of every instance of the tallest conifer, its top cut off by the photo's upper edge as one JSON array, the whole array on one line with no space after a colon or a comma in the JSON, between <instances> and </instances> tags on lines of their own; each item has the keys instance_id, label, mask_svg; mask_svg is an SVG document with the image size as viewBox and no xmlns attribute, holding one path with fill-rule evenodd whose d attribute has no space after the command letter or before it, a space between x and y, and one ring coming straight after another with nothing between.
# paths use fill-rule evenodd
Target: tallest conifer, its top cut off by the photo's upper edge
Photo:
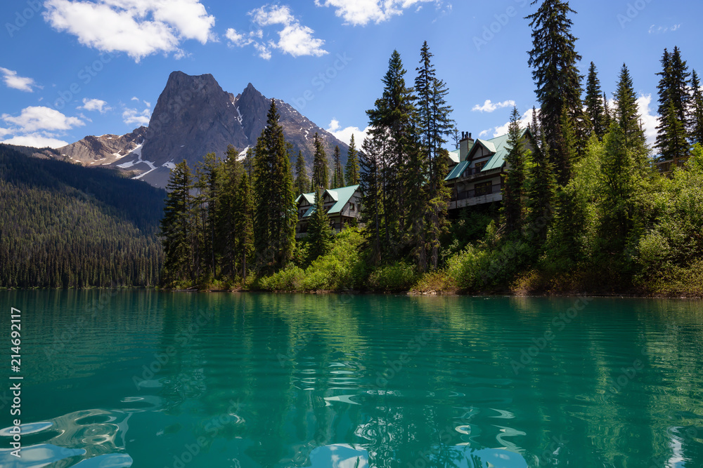
<instances>
[{"instance_id":1,"label":"tallest conifer, its top cut off by the photo's upper edge","mask_svg":"<svg viewBox=\"0 0 703 468\"><path fill-rule=\"evenodd\" d=\"M565 148L559 145L560 122L565 110L576 133L583 133L581 75L576 67L581 55L576 53L576 37L571 32L569 13L576 12L569 8L568 2L544 0L536 13L527 16L531 20L533 45L528 65L534 68L532 76L541 104L540 119L548 157L557 171L557 182L562 186L569 182L572 171L572 161L567 159ZM579 141L579 148L585 147L586 135L581 135L579 140L584 140Z\"/></svg>"}]
</instances>

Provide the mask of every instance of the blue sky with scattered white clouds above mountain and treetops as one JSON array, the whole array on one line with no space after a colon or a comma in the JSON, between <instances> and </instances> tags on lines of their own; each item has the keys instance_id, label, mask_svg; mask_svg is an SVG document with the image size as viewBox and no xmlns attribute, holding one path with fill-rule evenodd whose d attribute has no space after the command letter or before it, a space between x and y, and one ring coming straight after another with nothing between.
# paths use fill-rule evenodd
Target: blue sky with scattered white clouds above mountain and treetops
<instances>
[{"instance_id":1,"label":"blue sky with scattered white clouds above mountain and treetops","mask_svg":"<svg viewBox=\"0 0 703 468\"><path fill-rule=\"evenodd\" d=\"M697 1L570 2L585 74L608 95L623 62L654 137L664 48L703 74ZM124 134L156 104L169 73L247 83L349 139L367 125L394 49L408 82L427 40L460 131L501 133L512 103L535 104L527 66L529 0L6 0L0 4L0 141L58 147Z\"/></svg>"}]
</instances>

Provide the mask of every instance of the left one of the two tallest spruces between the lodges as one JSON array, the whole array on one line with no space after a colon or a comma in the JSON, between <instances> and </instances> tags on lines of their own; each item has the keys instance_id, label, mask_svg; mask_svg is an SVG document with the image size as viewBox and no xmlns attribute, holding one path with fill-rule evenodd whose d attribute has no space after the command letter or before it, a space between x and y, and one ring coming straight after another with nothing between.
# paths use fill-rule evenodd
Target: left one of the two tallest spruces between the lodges
<instances>
[{"instance_id":1,"label":"left one of the two tallest spruces between the lodges","mask_svg":"<svg viewBox=\"0 0 703 468\"><path fill-rule=\"evenodd\" d=\"M366 111L369 137L381 149L382 250L387 258L395 257L406 231L406 184L403 178L408 147L413 140L415 107L412 88L405 82L406 69L398 51L393 51L388 71L382 79L383 95L375 107Z\"/></svg>"}]
</instances>

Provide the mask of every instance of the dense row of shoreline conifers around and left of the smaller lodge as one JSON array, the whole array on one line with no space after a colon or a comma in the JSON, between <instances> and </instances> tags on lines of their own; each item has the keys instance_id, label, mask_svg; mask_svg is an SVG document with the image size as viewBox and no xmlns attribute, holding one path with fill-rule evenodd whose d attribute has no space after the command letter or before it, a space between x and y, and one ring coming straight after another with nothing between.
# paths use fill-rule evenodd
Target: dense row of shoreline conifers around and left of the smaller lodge
<instances>
[{"instance_id":1,"label":"dense row of shoreline conifers around and left of the smaller lodge","mask_svg":"<svg viewBox=\"0 0 703 468\"><path fill-rule=\"evenodd\" d=\"M354 137L345 171L339 147L330 164L316 133L309 178L302 152L294 154L279 119L276 102L271 100L266 127L243 160L229 147L224 158L207 154L194 172L186 161L176 164L160 232L165 286L232 286L246 282L250 271L271 274L292 261L311 261L328 250L332 232L323 208L311 218L309 241L296 243L295 199L316 192L321 206L324 189L359 183Z\"/></svg>"}]
</instances>

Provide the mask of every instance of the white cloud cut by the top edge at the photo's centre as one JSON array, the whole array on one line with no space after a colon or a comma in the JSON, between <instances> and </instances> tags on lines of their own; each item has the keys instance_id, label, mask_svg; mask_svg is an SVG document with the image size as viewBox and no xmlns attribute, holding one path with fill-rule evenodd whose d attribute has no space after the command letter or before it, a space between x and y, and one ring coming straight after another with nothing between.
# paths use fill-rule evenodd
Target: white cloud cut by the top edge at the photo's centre
<instances>
[{"instance_id":1,"label":"white cloud cut by the top edge at the photo's centre","mask_svg":"<svg viewBox=\"0 0 703 468\"><path fill-rule=\"evenodd\" d=\"M441 6L441 0L315 0L317 6L335 8L335 15L344 18L352 26L366 26L369 22L377 25L396 15L402 15L406 8L421 7L425 3ZM416 8L415 11L419 11Z\"/></svg>"}]
</instances>

